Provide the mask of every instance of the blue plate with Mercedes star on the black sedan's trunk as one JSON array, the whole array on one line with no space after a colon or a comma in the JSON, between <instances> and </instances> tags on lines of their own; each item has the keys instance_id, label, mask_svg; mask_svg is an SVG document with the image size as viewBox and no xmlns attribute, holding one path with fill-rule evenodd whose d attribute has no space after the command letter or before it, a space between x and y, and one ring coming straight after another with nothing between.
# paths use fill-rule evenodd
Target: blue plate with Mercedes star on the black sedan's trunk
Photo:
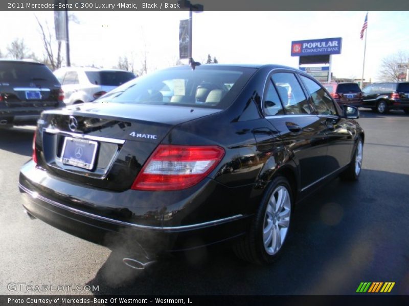
<instances>
[{"instance_id":1,"label":"blue plate with Mercedes star on the black sedan's trunk","mask_svg":"<svg viewBox=\"0 0 409 306\"><path fill-rule=\"evenodd\" d=\"M84 169L94 167L98 142L73 137L65 137L61 162Z\"/></svg>"}]
</instances>

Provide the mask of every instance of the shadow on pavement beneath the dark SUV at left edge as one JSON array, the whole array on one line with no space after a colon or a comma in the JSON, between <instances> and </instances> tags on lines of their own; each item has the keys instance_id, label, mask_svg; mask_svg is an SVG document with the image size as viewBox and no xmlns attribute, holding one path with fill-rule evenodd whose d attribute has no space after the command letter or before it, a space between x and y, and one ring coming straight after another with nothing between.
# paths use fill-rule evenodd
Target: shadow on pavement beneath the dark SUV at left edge
<instances>
[{"instance_id":1,"label":"shadow on pavement beneath the dark SUV at left edge","mask_svg":"<svg viewBox=\"0 0 409 306\"><path fill-rule=\"evenodd\" d=\"M34 131L29 129L0 129L0 149L31 156Z\"/></svg>"}]
</instances>

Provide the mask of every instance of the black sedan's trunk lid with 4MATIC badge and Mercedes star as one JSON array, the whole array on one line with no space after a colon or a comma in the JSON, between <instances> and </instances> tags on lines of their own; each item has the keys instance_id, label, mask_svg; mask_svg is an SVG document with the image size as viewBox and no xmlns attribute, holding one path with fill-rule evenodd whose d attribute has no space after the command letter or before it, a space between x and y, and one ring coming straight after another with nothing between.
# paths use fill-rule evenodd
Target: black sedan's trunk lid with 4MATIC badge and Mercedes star
<instances>
[{"instance_id":1,"label":"black sedan's trunk lid with 4MATIC badge and Mercedes star","mask_svg":"<svg viewBox=\"0 0 409 306\"><path fill-rule=\"evenodd\" d=\"M79 184L126 190L175 125L218 111L110 103L47 111L36 138L38 164Z\"/></svg>"}]
</instances>

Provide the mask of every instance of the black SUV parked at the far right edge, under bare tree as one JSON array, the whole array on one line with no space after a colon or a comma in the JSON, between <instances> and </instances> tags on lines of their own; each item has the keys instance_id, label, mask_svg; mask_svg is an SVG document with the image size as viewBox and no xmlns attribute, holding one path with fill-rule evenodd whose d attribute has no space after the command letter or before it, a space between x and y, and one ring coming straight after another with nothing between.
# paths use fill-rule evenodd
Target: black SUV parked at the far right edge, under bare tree
<instances>
[{"instance_id":1,"label":"black SUV parked at the far right edge, under bare tree","mask_svg":"<svg viewBox=\"0 0 409 306\"><path fill-rule=\"evenodd\" d=\"M409 82L373 83L362 91L362 107L380 114L389 110L404 110L409 114Z\"/></svg>"}]
</instances>

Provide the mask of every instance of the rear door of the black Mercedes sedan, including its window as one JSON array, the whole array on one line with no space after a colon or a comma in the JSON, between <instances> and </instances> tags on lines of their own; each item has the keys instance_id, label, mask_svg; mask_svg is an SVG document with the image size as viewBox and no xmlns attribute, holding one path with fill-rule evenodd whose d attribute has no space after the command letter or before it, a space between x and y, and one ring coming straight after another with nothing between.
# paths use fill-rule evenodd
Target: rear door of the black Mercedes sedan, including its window
<instances>
[{"instance_id":1,"label":"rear door of the black Mercedes sedan, including its window","mask_svg":"<svg viewBox=\"0 0 409 306\"><path fill-rule=\"evenodd\" d=\"M306 189L324 175L323 159L327 155L326 135L320 117L312 113L307 96L293 71L277 71L268 86L278 93L266 95L265 117L280 133L284 146L296 162L301 189Z\"/></svg>"}]
</instances>

